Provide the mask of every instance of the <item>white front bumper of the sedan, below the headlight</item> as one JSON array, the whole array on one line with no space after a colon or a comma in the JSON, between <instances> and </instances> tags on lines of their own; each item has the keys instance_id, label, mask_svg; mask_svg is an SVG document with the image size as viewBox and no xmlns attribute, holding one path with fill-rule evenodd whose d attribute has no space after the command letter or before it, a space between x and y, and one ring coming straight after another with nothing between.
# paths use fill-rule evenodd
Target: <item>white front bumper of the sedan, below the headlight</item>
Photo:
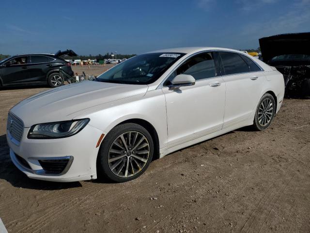
<instances>
[{"instance_id":1,"label":"white front bumper of the sedan, below the headlight","mask_svg":"<svg viewBox=\"0 0 310 233\"><path fill-rule=\"evenodd\" d=\"M76 135L59 139L29 139L28 131L29 128L24 128L19 145L12 141L8 132L7 141L12 162L29 178L57 182L97 178L96 159L99 147L96 148L96 144L102 131L87 125ZM42 161L63 162L64 169L59 174L53 174Z\"/></svg>"}]
</instances>

